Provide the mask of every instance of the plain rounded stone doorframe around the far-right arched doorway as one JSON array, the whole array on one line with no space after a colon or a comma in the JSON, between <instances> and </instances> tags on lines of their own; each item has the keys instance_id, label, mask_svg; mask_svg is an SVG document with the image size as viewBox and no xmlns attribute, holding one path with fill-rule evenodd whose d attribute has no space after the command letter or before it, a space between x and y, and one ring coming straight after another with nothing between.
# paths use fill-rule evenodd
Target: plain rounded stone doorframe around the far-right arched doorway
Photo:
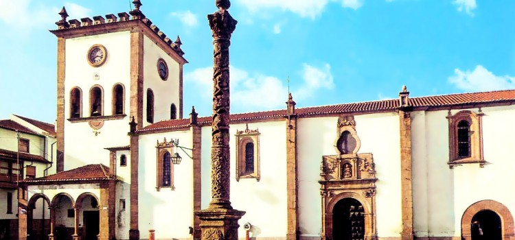
<instances>
[{"instance_id":1,"label":"plain rounded stone doorframe around the far-right arched doorway","mask_svg":"<svg viewBox=\"0 0 515 240\"><path fill-rule=\"evenodd\" d=\"M514 239L514 220L510 210L494 200L482 200L470 205L461 217L461 237L464 240L471 239L470 224L472 217L483 210L490 210L501 217L501 230L503 239L509 240Z\"/></svg>"}]
</instances>

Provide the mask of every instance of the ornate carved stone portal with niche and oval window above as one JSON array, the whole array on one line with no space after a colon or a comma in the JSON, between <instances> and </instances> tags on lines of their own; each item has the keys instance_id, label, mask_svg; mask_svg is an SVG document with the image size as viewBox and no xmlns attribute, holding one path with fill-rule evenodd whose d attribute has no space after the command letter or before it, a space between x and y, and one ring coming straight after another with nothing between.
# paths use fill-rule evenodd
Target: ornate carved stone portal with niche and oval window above
<instances>
[{"instance_id":1,"label":"ornate carved stone portal with niche and oval window above","mask_svg":"<svg viewBox=\"0 0 515 240\"><path fill-rule=\"evenodd\" d=\"M337 138L334 144L337 155L323 156L320 166L322 197L322 234L321 239L334 239L334 217L347 217L346 223L352 224L345 234L352 239L376 239L376 167L372 154L358 154L361 141L356 134L354 117L339 117L336 127ZM364 223L354 223L350 216L334 216L339 202L358 202ZM351 209L353 207L351 206ZM336 214L336 213L335 213ZM341 213L338 213L341 214ZM340 223L342 221L339 221ZM355 227L360 226L360 227ZM361 229L364 226L364 229ZM341 231L342 226L337 226ZM359 229L357 229L359 228ZM361 235L360 232L363 232ZM359 235L360 237L354 237Z\"/></svg>"}]
</instances>

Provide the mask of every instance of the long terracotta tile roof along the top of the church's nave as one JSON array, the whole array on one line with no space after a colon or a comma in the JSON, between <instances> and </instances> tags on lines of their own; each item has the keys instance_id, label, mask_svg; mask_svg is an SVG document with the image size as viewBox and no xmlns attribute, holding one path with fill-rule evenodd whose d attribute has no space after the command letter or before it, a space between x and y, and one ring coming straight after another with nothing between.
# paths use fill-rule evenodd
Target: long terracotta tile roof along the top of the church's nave
<instances>
[{"instance_id":1,"label":"long terracotta tile roof along the top of the church's nave","mask_svg":"<svg viewBox=\"0 0 515 240\"><path fill-rule=\"evenodd\" d=\"M515 90L489 91L480 93L457 93L450 95L437 95L428 97L409 98L409 105L413 110L430 108L471 107L480 104L512 104L515 103ZM313 106L296 108L295 114L299 117L316 117L324 115L339 115L344 113L373 113L389 112L399 108L398 99L386 99L379 101L364 101L351 104L336 104L328 106ZM231 115L231 123L244 121L260 121L282 119L287 117L286 109L270 110L265 112L246 112ZM198 125L210 125L211 117L199 117ZM190 119L165 120L154 123L138 130L139 133L155 132L164 130L179 130L189 128Z\"/></svg>"}]
</instances>

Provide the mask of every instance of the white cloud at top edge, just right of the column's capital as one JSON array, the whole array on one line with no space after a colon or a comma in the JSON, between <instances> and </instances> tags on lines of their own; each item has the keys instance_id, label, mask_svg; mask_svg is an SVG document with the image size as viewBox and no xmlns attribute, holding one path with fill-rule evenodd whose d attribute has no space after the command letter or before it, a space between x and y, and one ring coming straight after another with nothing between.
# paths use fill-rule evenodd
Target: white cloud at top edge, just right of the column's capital
<instances>
[{"instance_id":1,"label":"white cloud at top edge, just right of the column's capital","mask_svg":"<svg viewBox=\"0 0 515 240\"><path fill-rule=\"evenodd\" d=\"M302 17L314 19L319 16L329 0L238 0L251 12L260 12L265 8L280 8ZM332 1L332 0L331 0Z\"/></svg>"}]
</instances>

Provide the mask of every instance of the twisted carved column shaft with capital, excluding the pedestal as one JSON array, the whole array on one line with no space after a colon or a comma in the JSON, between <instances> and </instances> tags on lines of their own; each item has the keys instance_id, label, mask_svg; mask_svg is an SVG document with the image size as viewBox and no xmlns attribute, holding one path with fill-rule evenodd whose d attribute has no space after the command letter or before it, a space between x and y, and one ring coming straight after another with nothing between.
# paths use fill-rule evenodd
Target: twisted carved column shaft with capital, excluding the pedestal
<instances>
[{"instance_id":1,"label":"twisted carved column shaft with capital, excluding the pedestal","mask_svg":"<svg viewBox=\"0 0 515 240\"><path fill-rule=\"evenodd\" d=\"M227 9L229 0L217 0L218 11L207 15L213 32L213 123L211 147L210 208L231 208L229 202L229 45L238 21Z\"/></svg>"}]
</instances>

